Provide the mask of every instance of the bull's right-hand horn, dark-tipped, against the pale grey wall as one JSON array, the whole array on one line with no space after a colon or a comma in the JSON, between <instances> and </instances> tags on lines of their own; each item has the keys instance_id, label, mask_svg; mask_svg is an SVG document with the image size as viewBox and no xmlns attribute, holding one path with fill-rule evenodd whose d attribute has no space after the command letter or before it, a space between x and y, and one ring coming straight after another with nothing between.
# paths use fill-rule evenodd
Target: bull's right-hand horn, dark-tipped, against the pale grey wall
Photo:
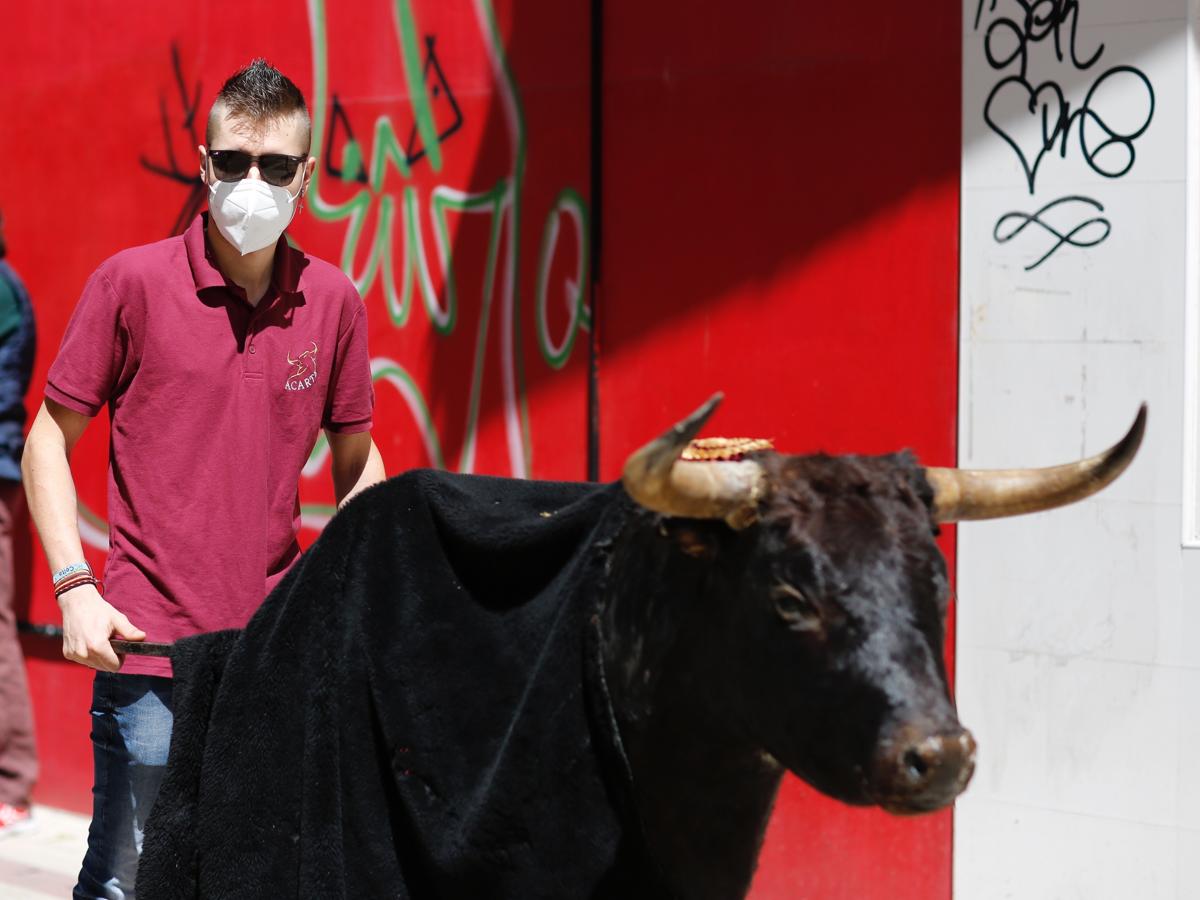
<instances>
[{"instance_id":1,"label":"bull's right-hand horn, dark-tipped, against the pale grey wall","mask_svg":"<svg viewBox=\"0 0 1200 900\"><path fill-rule=\"evenodd\" d=\"M1091 497L1126 470L1146 432L1146 404L1129 432L1103 454L1045 469L926 468L934 520L966 522L1039 512Z\"/></svg>"}]
</instances>

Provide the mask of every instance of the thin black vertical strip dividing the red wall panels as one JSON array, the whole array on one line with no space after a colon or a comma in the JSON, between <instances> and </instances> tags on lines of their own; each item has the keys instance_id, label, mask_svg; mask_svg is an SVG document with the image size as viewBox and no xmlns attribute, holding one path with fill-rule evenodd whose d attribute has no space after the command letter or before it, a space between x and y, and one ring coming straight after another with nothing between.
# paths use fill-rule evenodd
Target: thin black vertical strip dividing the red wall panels
<instances>
[{"instance_id":1,"label":"thin black vertical strip dividing the red wall panels","mask_svg":"<svg viewBox=\"0 0 1200 900\"><path fill-rule=\"evenodd\" d=\"M592 284L588 308L588 481L600 480L600 233L604 205L604 0L592 0L592 173L588 200L592 228L588 256Z\"/></svg>"}]
</instances>

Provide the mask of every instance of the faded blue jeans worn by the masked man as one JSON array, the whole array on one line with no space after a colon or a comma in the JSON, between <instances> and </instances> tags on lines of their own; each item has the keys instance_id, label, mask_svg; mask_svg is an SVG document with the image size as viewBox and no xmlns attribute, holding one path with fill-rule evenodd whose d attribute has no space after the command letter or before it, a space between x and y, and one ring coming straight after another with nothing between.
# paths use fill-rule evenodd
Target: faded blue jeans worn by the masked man
<instances>
[{"instance_id":1,"label":"faded blue jeans worn by the masked man","mask_svg":"<svg viewBox=\"0 0 1200 900\"><path fill-rule=\"evenodd\" d=\"M170 748L169 678L97 672L92 683L95 757L91 828L74 900L133 900L146 817Z\"/></svg>"}]
</instances>

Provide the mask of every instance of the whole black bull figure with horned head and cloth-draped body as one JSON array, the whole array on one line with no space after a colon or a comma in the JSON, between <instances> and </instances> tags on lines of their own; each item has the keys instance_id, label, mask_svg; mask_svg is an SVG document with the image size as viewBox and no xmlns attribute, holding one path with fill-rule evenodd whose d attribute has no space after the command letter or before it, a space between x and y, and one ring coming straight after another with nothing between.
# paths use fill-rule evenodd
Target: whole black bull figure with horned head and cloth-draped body
<instances>
[{"instance_id":1,"label":"whole black bull figure with horned head and cloth-draped body","mask_svg":"<svg viewBox=\"0 0 1200 900\"><path fill-rule=\"evenodd\" d=\"M564 552L562 540L553 547L526 538L509 541L500 556L524 553L528 562L508 559L503 569L505 562L484 546L480 534L452 524L449 508L431 518L439 546L455 545L454 553L478 559L492 553L505 572L529 571L505 575L503 584L460 578L470 566L455 568L452 577L428 574L421 571L425 550L416 545L413 559L391 560L390 574L372 582L367 593L378 594L382 578L408 596L421 592L420 578L442 578L454 582L446 590L466 588L481 598L470 622L484 619L486 634L472 641L492 649L458 658L475 670L476 685L490 678L504 682L508 676L490 674L502 671L520 671L526 679L546 661L558 670L512 690L512 702L522 709L511 721L497 720L498 739L472 720L494 719L497 704L460 701L462 691L454 688L460 673L439 671L432 661L439 656L428 655L439 635L450 641L446 653L462 653L454 646L462 643L454 629L438 631L439 610L450 607L432 607L432 618L425 619L430 638L419 628L396 628L420 620L413 618L419 608L397 610L390 596L360 598L361 606L391 617L384 634L374 634L360 612L350 618L341 598L328 601L343 582L359 578L355 563L326 564L317 547L264 604L245 636L218 635L173 653L185 684L206 685L188 688L184 703L203 707L204 714L190 715L186 739L176 720L164 782L168 800L160 802L166 809L155 809L148 828L139 893L173 900L263 896L264 890L310 896L319 886L322 896L450 896L466 890L505 898L737 898L749 887L785 770L838 799L894 812L952 803L971 776L974 742L958 722L947 686L948 584L935 544L937 524L1046 509L1099 490L1136 452L1145 413L1110 451L1043 470L926 469L908 454L797 457L754 451L712 462L680 460L714 406L715 398L630 457L623 481L638 506L614 504L607 499L611 491L584 500L616 526L602 540L589 539L588 571L595 565L601 571L586 577L581 618L556 608L542 584L563 576L533 571L540 556ZM396 498L415 498L404 500L410 509L420 504L418 493L396 487ZM457 482L433 487L460 490ZM505 488L479 509L508 503L511 493ZM518 500L511 500L514 510ZM358 505L330 530L370 534L371 523L355 520ZM503 514L497 515L494 522L502 522ZM582 516L588 517L595 518ZM404 515L392 518L398 533L420 539ZM362 550L367 564L380 548L395 546L392 538L352 544L371 545ZM562 569L571 566L574 562ZM524 590L524 582L535 583L527 590L535 601L512 612L505 594ZM426 586L425 593L430 590L442 588ZM284 602L292 607L281 607ZM500 619L526 617L539 604L545 607L540 620L522 619L516 631L487 643L485 638L497 637ZM330 618L304 624L311 608L325 610ZM544 628L541 622L550 620ZM583 704L588 713L575 716L592 724L580 726L576 740L562 722L563 710L574 709L580 696L578 686L571 686L581 671L578 638L571 632L583 623L593 632L589 647L598 662L596 677L584 678L592 691L592 702ZM522 649L510 637L556 629L557 642L524 653L536 656L535 664L514 661ZM256 642L264 640L284 653L275 659L260 652ZM404 640L410 643L396 650ZM322 642L340 649L314 647ZM343 664L362 642L383 649L365 654L361 684L337 683L335 691L330 685L341 676L330 666ZM203 659L197 648L206 654ZM384 653L392 654L386 665L377 659ZM314 667L322 670L316 676ZM239 672L248 692L234 686ZM385 696L394 700L380 701L377 683L390 684L392 692ZM364 695L362 684L374 692ZM284 688L311 694L298 698L296 710L277 703L264 709L253 696L259 685L275 697L287 696ZM206 698L199 702L197 695ZM202 722L206 731L197 728L210 707L227 710L233 727L222 727L214 712ZM449 714L451 708L458 714ZM612 740L604 739L598 719L611 720ZM331 734L326 720L341 733ZM551 720L553 726L546 724ZM256 732L256 722L269 727ZM439 750L421 757L420 728L428 722L434 722L430 731ZM448 745L448 733L470 737ZM488 740L499 748L496 754L481 751ZM253 751L247 744L256 744ZM518 745L527 750L515 752ZM362 761L378 757L382 780L380 772L338 772L352 750ZM599 762L584 762L581 752ZM236 773L224 770L222 761L235 756L262 760L252 781L230 781ZM593 769L599 787L589 782ZM294 774L305 779L299 787ZM457 793L456 780L463 785ZM365 790L368 781L379 790ZM500 792L499 805L494 796L487 798L491 806L481 802L508 782L516 787ZM380 791L383 800L373 796ZM247 792L270 809L241 809ZM370 810L372 821L358 810ZM564 836L571 829L582 829L583 836ZM371 846L370 854L361 844ZM581 859L589 853L594 859ZM364 875L372 868L374 874Z\"/></svg>"}]
</instances>

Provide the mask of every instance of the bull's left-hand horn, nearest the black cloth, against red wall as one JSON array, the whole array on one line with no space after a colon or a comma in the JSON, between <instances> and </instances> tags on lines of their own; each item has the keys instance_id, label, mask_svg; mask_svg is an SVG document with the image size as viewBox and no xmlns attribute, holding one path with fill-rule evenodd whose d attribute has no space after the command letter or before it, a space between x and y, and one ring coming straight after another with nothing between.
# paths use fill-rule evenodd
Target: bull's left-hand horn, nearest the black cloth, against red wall
<instances>
[{"instance_id":1,"label":"bull's left-hand horn, nearest the black cloth, against red wall","mask_svg":"<svg viewBox=\"0 0 1200 900\"><path fill-rule=\"evenodd\" d=\"M762 467L750 460L698 462L679 455L725 395L707 403L625 461L622 484L634 500L665 516L724 518L733 528L755 521L766 491Z\"/></svg>"}]
</instances>

